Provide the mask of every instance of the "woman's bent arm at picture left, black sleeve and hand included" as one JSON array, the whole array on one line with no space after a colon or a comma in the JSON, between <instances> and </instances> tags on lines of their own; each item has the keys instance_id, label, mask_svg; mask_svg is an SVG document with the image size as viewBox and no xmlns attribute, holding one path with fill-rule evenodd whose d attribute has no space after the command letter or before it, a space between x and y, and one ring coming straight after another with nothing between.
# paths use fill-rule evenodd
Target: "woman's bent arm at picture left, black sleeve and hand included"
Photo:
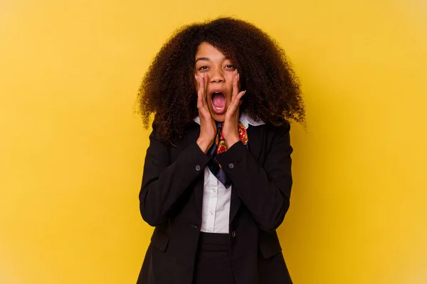
<instances>
[{"instance_id":1,"label":"woman's bent arm at picture left, black sleeve and hand included","mask_svg":"<svg viewBox=\"0 0 427 284\"><path fill-rule=\"evenodd\" d=\"M200 117L200 134L171 163L169 147L157 140L155 127L149 136L149 148L145 157L144 175L139 192L139 211L142 219L151 226L164 222L179 197L198 175L204 172L209 157L205 154L214 143L216 124L206 102L208 77L194 75L199 89L197 109Z\"/></svg>"}]
</instances>

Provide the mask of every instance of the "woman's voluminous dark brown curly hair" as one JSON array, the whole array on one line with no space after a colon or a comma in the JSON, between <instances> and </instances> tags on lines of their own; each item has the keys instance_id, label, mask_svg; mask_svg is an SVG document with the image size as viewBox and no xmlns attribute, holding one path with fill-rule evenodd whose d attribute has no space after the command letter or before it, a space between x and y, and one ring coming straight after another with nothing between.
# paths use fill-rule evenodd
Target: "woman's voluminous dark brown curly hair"
<instances>
[{"instance_id":1,"label":"woman's voluminous dark brown curly hair","mask_svg":"<svg viewBox=\"0 0 427 284\"><path fill-rule=\"evenodd\" d=\"M179 28L157 53L139 87L144 126L156 114L157 138L181 136L197 115L194 80L199 45L210 43L231 59L241 74L241 112L279 126L305 120L300 83L285 52L266 33L236 18L216 18Z\"/></svg>"}]
</instances>

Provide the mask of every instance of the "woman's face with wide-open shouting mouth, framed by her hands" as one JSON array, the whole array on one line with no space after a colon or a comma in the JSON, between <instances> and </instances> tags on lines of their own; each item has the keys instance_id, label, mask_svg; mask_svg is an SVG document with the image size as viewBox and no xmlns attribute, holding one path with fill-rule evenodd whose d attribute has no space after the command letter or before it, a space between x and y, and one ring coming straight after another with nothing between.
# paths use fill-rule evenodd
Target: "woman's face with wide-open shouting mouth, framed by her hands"
<instances>
[{"instance_id":1,"label":"woman's face with wide-open shouting mouth, framed by her hands","mask_svg":"<svg viewBox=\"0 0 427 284\"><path fill-rule=\"evenodd\" d=\"M224 121L233 94L233 62L209 43L201 43L196 53L196 75L206 73L206 101L215 121ZM199 86L196 83L196 90Z\"/></svg>"}]
</instances>

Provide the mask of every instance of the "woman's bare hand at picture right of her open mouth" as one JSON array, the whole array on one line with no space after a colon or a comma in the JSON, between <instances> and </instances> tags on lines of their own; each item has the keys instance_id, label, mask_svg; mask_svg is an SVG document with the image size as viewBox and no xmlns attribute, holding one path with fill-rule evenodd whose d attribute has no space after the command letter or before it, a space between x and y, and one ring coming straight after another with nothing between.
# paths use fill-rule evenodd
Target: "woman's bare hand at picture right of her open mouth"
<instances>
[{"instance_id":1,"label":"woman's bare hand at picture right of her open mouth","mask_svg":"<svg viewBox=\"0 0 427 284\"><path fill-rule=\"evenodd\" d=\"M231 103L226 111L226 119L222 129L224 140L226 141L227 148L230 148L240 141L238 136L238 118L240 116L239 107L241 105L241 97L246 91L238 92L238 81L240 75L237 70L233 73L233 95L231 97Z\"/></svg>"}]
</instances>

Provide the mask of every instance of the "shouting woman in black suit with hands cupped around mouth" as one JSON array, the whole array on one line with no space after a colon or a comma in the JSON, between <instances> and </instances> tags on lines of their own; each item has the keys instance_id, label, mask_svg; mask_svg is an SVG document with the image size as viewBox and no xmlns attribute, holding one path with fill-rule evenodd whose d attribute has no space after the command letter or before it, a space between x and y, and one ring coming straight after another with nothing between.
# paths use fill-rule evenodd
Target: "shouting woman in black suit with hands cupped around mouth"
<instances>
[{"instance_id":1,"label":"shouting woman in black suit with hands cupped around mouth","mask_svg":"<svg viewBox=\"0 0 427 284\"><path fill-rule=\"evenodd\" d=\"M177 31L139 89L155 114L139 209L155 226L137 283L292 283L275 229L292 186L300 87L282 49L245 21Z\"/></svg>"}]
</instances>

